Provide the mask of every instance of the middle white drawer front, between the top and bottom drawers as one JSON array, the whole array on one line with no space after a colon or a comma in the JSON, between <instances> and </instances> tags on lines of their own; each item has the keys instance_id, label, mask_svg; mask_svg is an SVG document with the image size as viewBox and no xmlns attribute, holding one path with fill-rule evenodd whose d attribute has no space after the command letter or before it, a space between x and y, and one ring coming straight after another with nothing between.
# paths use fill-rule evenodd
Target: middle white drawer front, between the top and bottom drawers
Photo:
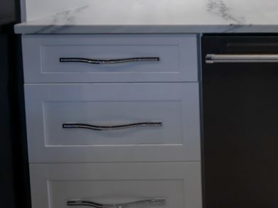
<instances>
[{"instance_id":1,"label":"middle white drawer front, between the top and bottom drawers","mask_svg":"<svg viewBox=\"0 0 278 208\"><path fill-rule=\"evenodd\" d=\"M201 160L198 83L25 84L25 94L31 163Z\"/></svg>"}]
</instances>

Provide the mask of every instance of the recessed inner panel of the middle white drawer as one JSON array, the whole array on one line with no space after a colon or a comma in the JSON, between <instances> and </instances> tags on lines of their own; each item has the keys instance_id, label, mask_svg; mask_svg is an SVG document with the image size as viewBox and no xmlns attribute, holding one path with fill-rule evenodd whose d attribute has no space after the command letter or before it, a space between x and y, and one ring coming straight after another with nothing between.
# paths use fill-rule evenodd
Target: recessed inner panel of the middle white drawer
<instances>
[{"instance_id":1,"label":"recessed inner panel of the middle white drawer","mask_svg":"<svg viewBox=\"0 0 278 208\"><path fill-rule=\"evenodd\" d=\"M45 102L46 146L182 145L182 102L149 99Z\"/></svg>"}]
</instances>

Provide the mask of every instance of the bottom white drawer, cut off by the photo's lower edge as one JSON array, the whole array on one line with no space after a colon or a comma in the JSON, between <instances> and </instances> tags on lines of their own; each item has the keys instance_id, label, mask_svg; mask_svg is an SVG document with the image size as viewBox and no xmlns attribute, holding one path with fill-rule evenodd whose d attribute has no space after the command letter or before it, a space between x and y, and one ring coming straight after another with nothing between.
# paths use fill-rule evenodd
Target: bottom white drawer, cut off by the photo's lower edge
<instances>
[{"instance_id":1,"label":"bottom white drawer, cut off by the photo's lower edge","mask_svg":"<svg viewBox=\"0 0 278 208\"><path fill-rule=\"evenodd\" d=\"M122 204L141 200L129 205L202 207L200 163L31 164L30 176L33 208L65 208L80 201ZM87 207L86 203L81 207Z\"/></svg>"}]
</instances>

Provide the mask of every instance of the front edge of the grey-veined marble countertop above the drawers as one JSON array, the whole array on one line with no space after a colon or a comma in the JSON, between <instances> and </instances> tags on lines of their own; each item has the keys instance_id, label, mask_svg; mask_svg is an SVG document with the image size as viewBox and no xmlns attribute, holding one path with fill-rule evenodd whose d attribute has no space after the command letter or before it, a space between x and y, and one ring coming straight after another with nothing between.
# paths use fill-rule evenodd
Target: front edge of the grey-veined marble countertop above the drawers
<instances>
[{"instance_id":1,"label":"front edge of the grey-veined marble countertop above the drawers","mask_svg":"<svg viewBox=\"0 0 278 208\"><path fill-rule=\"evenodd\" d=\"M278 33L278 25L32 25L14 26L17 34L102 33Z\"/></svg>"}]
</instances>

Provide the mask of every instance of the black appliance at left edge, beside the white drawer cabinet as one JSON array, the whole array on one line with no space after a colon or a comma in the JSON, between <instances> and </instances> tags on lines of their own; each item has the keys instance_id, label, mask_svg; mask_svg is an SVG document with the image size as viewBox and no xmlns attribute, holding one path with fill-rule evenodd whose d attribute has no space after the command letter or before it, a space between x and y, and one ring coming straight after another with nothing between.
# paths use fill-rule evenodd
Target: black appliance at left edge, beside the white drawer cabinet
<instances>
[{"instance_id":1,"label":"black appliance at left edge, beside the white drawer cabinet","mask_svg":"<svg viewBox=\"0 0 278 208\"><path fill-rule=\"evenodd\" d=\"M19 1L0 0L0 207L30 208Z\"/></svg>"}]
</instances>

